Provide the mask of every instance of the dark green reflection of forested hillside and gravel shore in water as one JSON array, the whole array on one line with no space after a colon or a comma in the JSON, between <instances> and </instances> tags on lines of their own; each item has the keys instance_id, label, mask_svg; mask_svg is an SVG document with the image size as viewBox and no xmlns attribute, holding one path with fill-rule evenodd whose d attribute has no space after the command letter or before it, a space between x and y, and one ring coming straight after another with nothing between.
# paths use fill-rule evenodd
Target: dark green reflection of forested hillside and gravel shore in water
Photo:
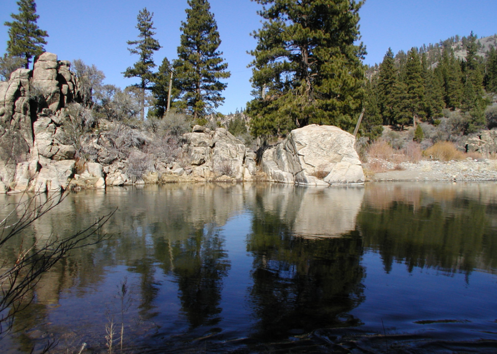
<instances>
[{"instance_id":1,"label":"dark green reflection of forested hillside and gravel shore in water","mask_svg":"<svg viewBox=\"0 0 497 354\"><path fill-rule=\"evenodd\" d=\"M497 184L386 183L366 186L358 227L384 269L393 262L440 269L495 272Z\"/></svg>"}]
</instances>

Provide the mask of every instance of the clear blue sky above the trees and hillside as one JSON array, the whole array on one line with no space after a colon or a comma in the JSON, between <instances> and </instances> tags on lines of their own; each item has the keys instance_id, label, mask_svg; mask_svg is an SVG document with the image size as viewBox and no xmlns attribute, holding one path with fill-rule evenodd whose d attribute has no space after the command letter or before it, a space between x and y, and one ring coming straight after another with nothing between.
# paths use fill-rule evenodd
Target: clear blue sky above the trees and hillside
<instances>
[{"instance_id":1,"label":"clear blue sky above the trees and hillside","mask_svg":"<svg viewBox=\"0 0 497 354\"><path fill-rule=\"evenodd\" d=\"M82 59L105 73L105 83L122 88L135 83L122 72L137 59L126 42L135 40L138 11L154 13L155 38L163 47L154 55L157 65L164 57L176 58L181 21L186 19L186 0L37 0L38 25L48 32L46 50L59 60ZM260 6L250 0L210 0L218 23L220 50L229 64L231 77L224 92L222 113L245 106L251 96L252 57L247 50L256 42L250 33L261 26L256 14ZM17 13L15 0L0 0L0 22ZM383 60L388 47L394 53L413 46L437 43L471 31L478 36L497 33L497 0L367 0L360 10L361 40L366 45L366 64ZM8 27L0 28L0 53L5 52Z\"/></svg>"}]
</instances>

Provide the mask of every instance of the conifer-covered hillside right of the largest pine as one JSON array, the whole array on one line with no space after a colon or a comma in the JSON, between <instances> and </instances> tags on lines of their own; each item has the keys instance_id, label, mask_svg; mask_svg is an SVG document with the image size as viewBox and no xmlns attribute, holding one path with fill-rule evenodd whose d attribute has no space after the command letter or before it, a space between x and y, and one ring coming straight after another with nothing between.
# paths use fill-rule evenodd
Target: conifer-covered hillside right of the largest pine
<instances>
[{"instance_id":1,"label":"conifer-covered hillside right of the largest pine","mask_svg":"<svg viewBox=\"0 0 497 354\"><path fill-rule=\"evenodd\" d=\"M367 70L365 135L377 137L379 124L437 126L444 116L464 135L494 127L495 117L485 109L497 92L496 47L497 35L478 39L471 33L395 56L389 49Z\"/></svg>"}]
</instances>

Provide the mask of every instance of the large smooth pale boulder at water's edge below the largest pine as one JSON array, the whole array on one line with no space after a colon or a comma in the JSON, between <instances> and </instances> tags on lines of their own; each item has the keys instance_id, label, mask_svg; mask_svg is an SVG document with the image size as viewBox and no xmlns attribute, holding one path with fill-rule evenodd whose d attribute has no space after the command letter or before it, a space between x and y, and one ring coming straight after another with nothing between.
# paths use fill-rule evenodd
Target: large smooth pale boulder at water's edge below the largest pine
<instances>
[{"instance_id":1,"label":"large smooth pale boulder at water's edge below the largest pine","mask_svg":"<svg viewBox=\"0 0 497 354\"><path fill-rule=\"evenodd\" d=\"M276 182L304 185L363 184L364 173L353 135L333 126L293 130L264 151L262 169Z\"/></svg>"}]
</instances>

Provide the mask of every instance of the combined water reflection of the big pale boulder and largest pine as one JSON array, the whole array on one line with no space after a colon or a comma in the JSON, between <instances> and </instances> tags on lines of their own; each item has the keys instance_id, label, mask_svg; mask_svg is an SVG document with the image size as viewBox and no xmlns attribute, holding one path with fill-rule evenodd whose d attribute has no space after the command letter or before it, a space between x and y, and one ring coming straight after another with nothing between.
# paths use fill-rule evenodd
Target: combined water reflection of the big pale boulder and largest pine
<instances>
[{"instance_id":1,"label":"combined water reflection of the big pale boulder and largest pine","mask_svg":"<svg viewBox=\"0 0 497 354\"><path fill-rule=\"evenodd\" d=\"M363 301L363 244L354 225L362 193L277 186L257 190L247 236L247 251L254 257L250 302L256 338L277 340L316 328L359 325L346 313ZM338 197L350 197L351 207L340 209L343 201L334 202ZM340 218L344 222L336 226Z\"/></svg>"}]
</instances>

